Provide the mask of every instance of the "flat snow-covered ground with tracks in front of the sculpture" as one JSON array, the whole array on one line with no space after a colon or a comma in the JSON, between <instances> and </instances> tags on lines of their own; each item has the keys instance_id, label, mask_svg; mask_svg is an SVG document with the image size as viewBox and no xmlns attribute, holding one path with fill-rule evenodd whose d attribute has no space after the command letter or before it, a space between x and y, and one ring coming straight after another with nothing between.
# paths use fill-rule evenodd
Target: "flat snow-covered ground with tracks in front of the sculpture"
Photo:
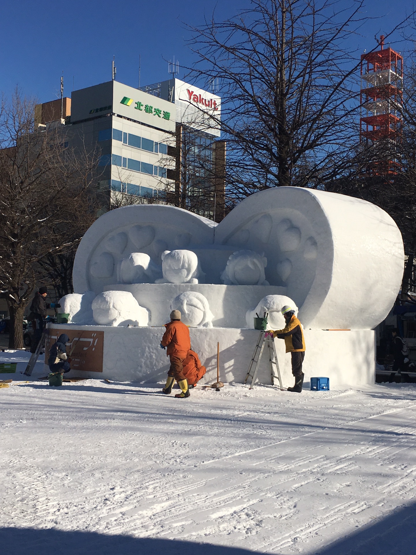
<instances>
[{"instance_id":1,"label":"flat snow-covered ground with tracks in front of the sculpture","mask_svg":"<svg viewBox=\"0 0 416 555\"><path fill-rule=\"evenodd\" d=\"M2 353L19 360L27 353ZM0 361L1 361L0 360ZM34 377L43 374L42 364ZM416 387L0 389L4 555L416 552Z\"/></svg>"}]
</instances>

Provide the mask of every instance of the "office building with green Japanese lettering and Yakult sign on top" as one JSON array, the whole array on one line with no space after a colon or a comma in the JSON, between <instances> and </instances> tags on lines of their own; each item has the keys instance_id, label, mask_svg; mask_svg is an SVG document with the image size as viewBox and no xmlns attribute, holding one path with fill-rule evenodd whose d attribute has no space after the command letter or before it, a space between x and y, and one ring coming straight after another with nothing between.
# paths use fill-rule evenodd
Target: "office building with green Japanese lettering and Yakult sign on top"
<instances>
[{"instance_id":1,"label":"office building with green Japanese lettering and Yakult sign on top","mask_svg":"<svg viewBox=\"0 0 416 555\"><path fill-rule=\"evenodd\" d=\"M70 147L97 153L109 205L120 194L160 197L212 217L215 198L221 216L225 143L216 95L179 79L141 89L111 80L37 105L35 124L65 125Z\"/></svg>"}]
</instances>

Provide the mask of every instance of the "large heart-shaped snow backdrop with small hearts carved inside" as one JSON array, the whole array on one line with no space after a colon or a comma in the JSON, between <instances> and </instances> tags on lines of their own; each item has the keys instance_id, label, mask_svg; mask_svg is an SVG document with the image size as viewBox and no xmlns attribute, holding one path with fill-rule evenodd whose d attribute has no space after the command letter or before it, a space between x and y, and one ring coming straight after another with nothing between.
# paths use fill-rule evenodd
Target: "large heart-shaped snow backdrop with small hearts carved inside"
<instances>
[{"instance_id":1,"label":"large heart-shaped snow backdrop with small hearts carved inside","mask_svg":"<svg viewBox=\"0 0 416 555\"><path fill-rule=\"evenodd\" d=\"M263 282L275 290L259 289L257 302L267 294L290 297L303 325L319 329L373 329L394 304L403 275L402 237L383 210L345 195L278 187L249 196L217 225L155 204L103 214L80 241L74 290L109 289L121 259L138 249L160 271L163 252L178 247L195 253L204 284L212 287L262 287L244 280L222 285L220 278L236 251L264 253ZM258 284L260 277L250 282ZM197 278L186 274L168 281L192 280Z\"/></svg>"}]
</instances>

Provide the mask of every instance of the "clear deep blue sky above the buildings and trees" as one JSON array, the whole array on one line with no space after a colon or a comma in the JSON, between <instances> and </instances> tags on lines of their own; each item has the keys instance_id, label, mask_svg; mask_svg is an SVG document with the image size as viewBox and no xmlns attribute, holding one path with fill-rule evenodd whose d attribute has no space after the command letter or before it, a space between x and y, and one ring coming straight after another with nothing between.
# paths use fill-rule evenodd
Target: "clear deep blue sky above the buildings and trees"
<instances>
[{"instance_id":1,"label":"clear deep blue sky above the buildings and trees","mask_svg":"<svg viewBox=\"0 0 416 555\"><path fill-rule=\"evenodd\" d=\"M115 55L117 80L138 86L168 79L164 59L191 65L184 23L197 26L216 9L218 19L230 17L249 0L0 0L0 90L9 96L19 85L40 102L111 79ZM342 0L346 6L350 0ZM374 47L374 34L394 27L412 11L410 0L368 0L366 14L374 19L357 37L357 47ZM364 14L363 14L364 15ZM392 40L400 40L395 34ZM404 45L393 47L403 51ZM183 74L179 75L181 78Z\"/></svg>"}]
</instances>

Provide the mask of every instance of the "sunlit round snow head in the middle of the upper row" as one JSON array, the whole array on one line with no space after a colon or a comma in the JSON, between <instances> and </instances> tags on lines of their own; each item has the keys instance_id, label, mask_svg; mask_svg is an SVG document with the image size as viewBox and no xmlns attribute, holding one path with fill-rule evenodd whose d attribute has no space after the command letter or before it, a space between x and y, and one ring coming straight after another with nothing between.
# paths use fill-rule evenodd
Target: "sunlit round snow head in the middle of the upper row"
<instances>
[{"instance_id":1,"label":"sunlit round snow head in the middle of the upper row","mask_svg":"<svg viewBox=\"0 0 416 555\"><path fill-rule=\"evenodd\" d=\"M203 276L198 257L191 250L165 250L162 253L163 278L155 283L198 283Z\"/></svg>"}]
</instances>

